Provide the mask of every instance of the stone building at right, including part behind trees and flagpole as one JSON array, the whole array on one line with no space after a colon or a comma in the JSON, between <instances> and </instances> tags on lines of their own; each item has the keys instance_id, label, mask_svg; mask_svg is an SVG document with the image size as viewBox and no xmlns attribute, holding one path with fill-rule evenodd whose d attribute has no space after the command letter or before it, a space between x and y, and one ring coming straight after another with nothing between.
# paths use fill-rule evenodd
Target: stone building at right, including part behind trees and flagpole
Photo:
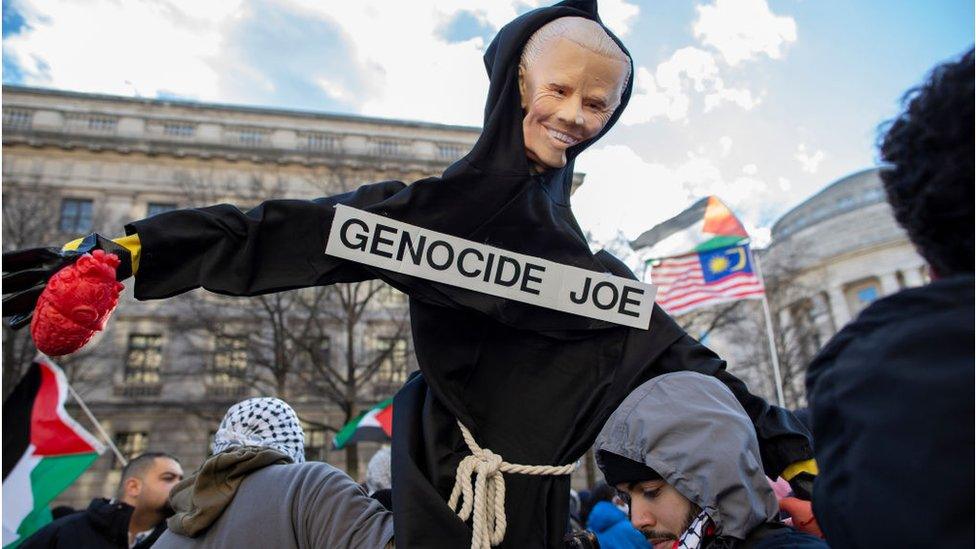
<instances>
[{"instance_id":1,"label":"stone building at right, including part behind trees and flagpole","mask_svg":"<svg viewBox=\"0 0 976 549\"><path fill-rule=\"evenodd\" d=\"M770 245L756 256L790 408L806 406L806 368L835 333L872 301L928 281L924 260L892 216L876 168L843 177L784 214L773 225ZM707 322L719 309L691 314ZM707 344L753 392L775 401L758 301L740 302Z\"/></svg>"}]
</instances>

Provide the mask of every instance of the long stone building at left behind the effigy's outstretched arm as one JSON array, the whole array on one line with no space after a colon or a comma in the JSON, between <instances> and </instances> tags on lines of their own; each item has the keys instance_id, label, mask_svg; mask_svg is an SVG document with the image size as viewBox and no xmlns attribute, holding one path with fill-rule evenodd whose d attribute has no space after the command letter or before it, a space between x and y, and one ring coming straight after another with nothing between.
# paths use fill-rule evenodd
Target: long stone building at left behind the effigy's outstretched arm
<instances>
[{"instance_id":1,"label":"long stone building at left behind the effigy's outstretched arm","mask_svg":"<svg viewBox=\"0 0 976 549\"><path fill-rule=\"evenodd\" d=\"M313 198L385 179L414 181L440 174L479 132L5 85L3 245L57 245L93 230L121 236L128 220L185 206L229 202L247 208L267 198ZM91 350L64 361L74 387L123 453L171 452L192 471L206 457L230 404L284 391L306 421L308 457L345 466L345 453L331 451L332 432L324 427L341 426L334 403L304 390L304 379L279 387L249 383L261 367L246 343L253 334L201 332L198 323L188 336L187 315L200 314L211 300L224 306L228 298L197 290L183 299L137 302L132 282L127 286ZM357 395L360 409L391 395L416 368L409 329L391 326L406 318L403 297L380 290L355 328L359 356L382 356L369 387ZM223 324L221 317L210 322ZM25 356L30 359L29 350L17 354L26 348L25 331L4 329L5 395L21 371L18 359L20 366ZM338 333L320 338L325 366L344 367L343 341ZM71 413L92 429L76 407ZM361 445L360 460L376 448ZM119 469L107 451L56 503L80 507L91 497L111 495Z\"/></svg>"}]
</instances>

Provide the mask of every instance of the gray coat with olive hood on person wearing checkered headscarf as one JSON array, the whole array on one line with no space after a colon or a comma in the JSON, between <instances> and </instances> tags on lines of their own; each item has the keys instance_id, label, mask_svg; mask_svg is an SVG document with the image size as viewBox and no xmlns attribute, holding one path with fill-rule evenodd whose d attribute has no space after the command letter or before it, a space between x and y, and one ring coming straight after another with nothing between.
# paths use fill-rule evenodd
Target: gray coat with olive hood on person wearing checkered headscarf
<instances>
[{"instance_id":1,"label":"gray coat with olive hood on person wearing checkered headscarf","mask_svg":"<svg viewBox=\"0 0 976 549\"><path fill-rule=\"evenodd\" d=\"M211 457L173 488L176 531L153 547L382 548L391 541L393 515L344 472L287 461L255 448Z\"/></svg>"}]
</instances>

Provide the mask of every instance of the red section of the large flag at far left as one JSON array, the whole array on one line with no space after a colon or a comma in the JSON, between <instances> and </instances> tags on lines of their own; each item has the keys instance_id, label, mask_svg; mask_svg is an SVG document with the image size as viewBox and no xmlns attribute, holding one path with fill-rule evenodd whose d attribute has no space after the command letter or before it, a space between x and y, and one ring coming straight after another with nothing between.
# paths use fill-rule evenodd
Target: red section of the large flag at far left
<instances>
[{"instance_id":1,"label":"red section of the large flag at far left","mask_svg":"<svg viewBox=\"0 0 976 549\"><path fill-rule=\"evenodd\" d=\"M31 410L31 444L38 456L61 456L96 452L90 442L79 435L72 424L65 421L63 378L54 367L40 361L41 386L34 398ZM70 419L68 420L70 421Z\"/></svg>"}]
</instances>

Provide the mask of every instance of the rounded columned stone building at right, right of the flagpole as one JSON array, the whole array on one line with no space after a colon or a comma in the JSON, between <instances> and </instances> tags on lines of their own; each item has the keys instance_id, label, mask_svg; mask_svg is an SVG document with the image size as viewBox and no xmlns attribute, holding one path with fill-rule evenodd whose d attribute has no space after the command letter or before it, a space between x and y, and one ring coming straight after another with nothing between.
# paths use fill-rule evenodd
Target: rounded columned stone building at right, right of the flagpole
<instances>
[{"instance_id":1,"label":"rounded columned stone building at right, right of the flagpole","mask_svg":"<svg viewBox=\"0 0 976 549\"><path fill-rule=\"evenodd\" d=\"M802 334L809 359L872 301L928 281L898 226L879 169L848 175L785 215L762 254L781 334Z\"/></svg>"}]
</instances>

